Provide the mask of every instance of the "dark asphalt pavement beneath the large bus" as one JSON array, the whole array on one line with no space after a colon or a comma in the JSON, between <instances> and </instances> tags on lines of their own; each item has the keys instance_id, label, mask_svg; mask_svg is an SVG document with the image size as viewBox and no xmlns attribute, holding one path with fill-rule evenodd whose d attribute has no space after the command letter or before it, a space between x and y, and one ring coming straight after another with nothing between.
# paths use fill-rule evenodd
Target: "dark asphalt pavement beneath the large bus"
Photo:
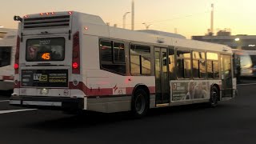
<instances>
[{"instance_id":1,"label":"dark asphalt pavement beneath the large bus","mask_svg":"<svg viewBox=\"0 0 256 144\"><path fill-rule=\"evenodd\" d=\"M205 105L152 109L145 118L128 113L74 116L54 110L21 110L0 98L0 143L256 143L256 85L238 85L238 97ZM5 101L6 100L6 101Z\"/></svg>"}]
</instances>

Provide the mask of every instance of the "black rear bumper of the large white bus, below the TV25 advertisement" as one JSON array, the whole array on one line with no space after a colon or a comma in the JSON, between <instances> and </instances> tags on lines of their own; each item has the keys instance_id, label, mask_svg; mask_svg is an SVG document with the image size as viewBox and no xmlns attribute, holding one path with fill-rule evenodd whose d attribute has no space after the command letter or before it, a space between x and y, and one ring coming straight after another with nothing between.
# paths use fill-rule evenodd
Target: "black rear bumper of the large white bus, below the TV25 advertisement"
<instances>
[{"instance_id":1,"label":"black rear bumper of the large white bus, below the TV25 advertisement","mask_svg":"<svg viewBox=\"0 0 256 144\"><path fill-rule=\"evenodd\" d=\"M10 105L44 110L83 110L84 98L11 96Z\"/></svg>"}]
</instances>

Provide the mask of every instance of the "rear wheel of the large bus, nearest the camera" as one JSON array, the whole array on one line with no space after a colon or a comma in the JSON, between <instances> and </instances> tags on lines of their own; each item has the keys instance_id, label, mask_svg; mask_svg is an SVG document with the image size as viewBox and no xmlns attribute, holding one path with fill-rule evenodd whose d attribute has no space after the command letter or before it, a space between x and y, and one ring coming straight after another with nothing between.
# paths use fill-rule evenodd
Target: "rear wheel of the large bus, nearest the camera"
<instances>
[{"instance_id":1,"label":"rear wheel of the large bus, nearest the camera","mask_svg":"<svg viewBox=\"0 0 256 144\"><path fill-rule=\"evenodd\" d=\"M147 100L147 94L145 90L136 90L131 103L132 113L136 118L142 118L148 109L149 101Z\"/></svg>"}]
</instances>

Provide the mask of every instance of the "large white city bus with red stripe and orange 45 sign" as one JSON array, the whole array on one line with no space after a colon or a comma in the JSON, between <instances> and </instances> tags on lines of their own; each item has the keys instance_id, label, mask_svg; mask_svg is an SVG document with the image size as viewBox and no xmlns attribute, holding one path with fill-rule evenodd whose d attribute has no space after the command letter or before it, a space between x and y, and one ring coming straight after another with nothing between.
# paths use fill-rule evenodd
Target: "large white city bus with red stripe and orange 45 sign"
<instances>
[{"instance_id":1,"label":"large white city bus with red stripe and orange 45 sign","mask_svg":"<svg viewBox=\"0 0 256 144\"><path fill-rule=\"evenodd\" d=\"M233 98L230 47L107 26L74 11L20 21L10 104L104 113Z\"/></svg>"}]
</instances>

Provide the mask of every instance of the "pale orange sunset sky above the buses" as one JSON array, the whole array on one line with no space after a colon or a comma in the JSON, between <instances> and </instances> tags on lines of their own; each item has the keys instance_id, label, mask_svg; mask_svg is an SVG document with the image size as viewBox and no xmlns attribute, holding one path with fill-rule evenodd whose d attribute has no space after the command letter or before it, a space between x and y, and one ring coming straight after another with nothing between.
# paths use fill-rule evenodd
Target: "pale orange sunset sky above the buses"
<instances>
[{"instance_id":1,"label":"pale orange sunset sky above the buses","mask_svg":"<svg viewBox=\"0 0 256 144\"><path fill-rule=\"evenodd\" d=\"M17 28L13 16L51 11L79 11L99 15L110 26L122 27L122 16L131 11L132 0L2 0L0 26ZM228 28L231 34L256 35L254 0L134 0L135 30L162 30L190 38L204 35L210 28L211 3L214 3L214 32ZM126 15L126 29L131 27L131 14Z\"/></svg>"}]
</instances>

